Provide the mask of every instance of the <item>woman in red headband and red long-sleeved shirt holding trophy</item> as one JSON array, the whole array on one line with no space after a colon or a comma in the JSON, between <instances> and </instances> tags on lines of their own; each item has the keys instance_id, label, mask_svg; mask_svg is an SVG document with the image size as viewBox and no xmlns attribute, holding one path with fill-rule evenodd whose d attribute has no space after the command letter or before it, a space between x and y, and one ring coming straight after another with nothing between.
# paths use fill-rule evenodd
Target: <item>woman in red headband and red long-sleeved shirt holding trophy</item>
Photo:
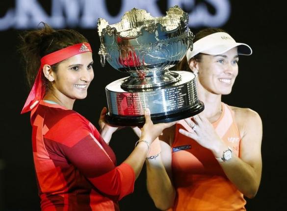
<instances>
[{"instance_id":1,"label":"woman in red headband and red long-sleeved shirt holding trophy","mask_svg":"<svg viewBox=\"0 0 287 211\"><path fill-rule=\"evenodd\" d=\"M92 49L75 30L48 25L27 32L21 50L32 89L22 113L31 111L32 148L42 211L117 211L133 191L151 143L165 127L146 112L135 149L119 166L108 146L117 129L99 121L101 134L73 111L94 78ZM101 136L102 135L102 136Z\"/></svg>"}]
</instances>

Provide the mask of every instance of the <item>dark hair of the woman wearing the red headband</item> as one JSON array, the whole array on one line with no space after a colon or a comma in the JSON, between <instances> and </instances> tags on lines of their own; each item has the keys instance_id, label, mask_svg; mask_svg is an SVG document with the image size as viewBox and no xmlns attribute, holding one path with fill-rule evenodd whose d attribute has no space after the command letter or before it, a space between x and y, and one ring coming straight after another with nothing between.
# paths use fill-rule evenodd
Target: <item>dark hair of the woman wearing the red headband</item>
<instances>
[{"instance_id":1,"label":"dark hair of the woman wearing the red headband","mask_svg":"<svg viewBox=\"0 0 287 211\"><path fill-rule=\"evenodd\" d=\"M42 57L71 45L88 42L82 34L75 30L54 30L46 23L41 22L40 24L43 24L43 28L25 31L23 35L20 35L19 50L25 61L29 87L34 83ZM51 66L53 71L57 71L57 64ZM51 83L44 75L42 76L43 85L47 90Z\"/></svg>"}]
</instances>

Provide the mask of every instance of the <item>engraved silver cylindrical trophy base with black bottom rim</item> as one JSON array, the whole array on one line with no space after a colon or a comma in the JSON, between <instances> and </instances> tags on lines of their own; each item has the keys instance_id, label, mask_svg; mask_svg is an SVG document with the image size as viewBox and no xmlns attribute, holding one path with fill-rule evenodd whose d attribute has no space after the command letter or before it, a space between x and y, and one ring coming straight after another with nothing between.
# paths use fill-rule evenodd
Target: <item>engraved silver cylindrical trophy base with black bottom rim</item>
<instances>
[{"instance_id":1,"label":"engraved silver cylindrical trophy base with black bottom rim","mask_svg":"<svg viewBox=\"0 0 287 211\"><path fill-rule=\"evenodd\" d=\"M204 105L197 97L196 76L187 71L176 72L182 79L160 89L129 92L121 88L126 78L107 85L106 121L113 125L140 126L145 122L146 108L154 123L178 121L203 111Z\"/></svg>"}]
</instances>

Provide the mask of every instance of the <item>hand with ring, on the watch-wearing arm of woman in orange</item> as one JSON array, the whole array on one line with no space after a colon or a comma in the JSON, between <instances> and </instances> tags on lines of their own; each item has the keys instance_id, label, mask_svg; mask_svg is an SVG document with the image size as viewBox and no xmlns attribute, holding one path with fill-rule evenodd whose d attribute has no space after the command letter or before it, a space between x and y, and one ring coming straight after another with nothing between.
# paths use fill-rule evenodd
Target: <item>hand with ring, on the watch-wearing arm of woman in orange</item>
<instances>
[{"instance_id":1,"label":"hand with ring, on the watch-wearing arm of woman in orange","mask_svg":"<svg viewBox=\"0 0 287 211\"><path fill-rule=\"evenodd\" d=\"M180 129L179 132L198 142L201 146L216 152L221 148L226 148L220 137L215 132L212 124L203 115L195 115L192 118L184 120L189 128L189 131Z\"/></svg>"}]
</instances>

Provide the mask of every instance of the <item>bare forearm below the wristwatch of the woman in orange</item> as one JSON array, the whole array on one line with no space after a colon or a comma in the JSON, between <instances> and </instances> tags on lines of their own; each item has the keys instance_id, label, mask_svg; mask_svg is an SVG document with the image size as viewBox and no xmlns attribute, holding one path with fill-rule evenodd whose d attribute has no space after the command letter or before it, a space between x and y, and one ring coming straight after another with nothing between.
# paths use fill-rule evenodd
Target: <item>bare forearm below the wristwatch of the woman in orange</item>
<instances>
[{"instance_id":1,"label":"bare forearm below the wristwatch of the woman in orange","mask_svg":"<svg viewBox=\"0 0 287 211\"><path fill-rule=\"evenodd\" d=\"M261 170L257 170L237 156L220 163L228 179L235 184L240 192L248 198L253 198L259 188Z\"/></svg>"}]
</instances>

